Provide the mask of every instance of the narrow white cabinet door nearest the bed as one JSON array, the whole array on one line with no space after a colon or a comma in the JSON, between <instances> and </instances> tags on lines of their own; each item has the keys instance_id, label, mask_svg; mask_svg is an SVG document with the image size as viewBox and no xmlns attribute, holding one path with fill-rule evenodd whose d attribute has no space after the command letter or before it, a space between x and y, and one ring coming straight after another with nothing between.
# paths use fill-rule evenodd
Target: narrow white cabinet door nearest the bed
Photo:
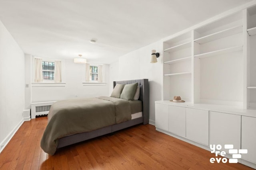
<instances>
[{"instance_id":1,"label":"narrow white cabinet door nearest the bed","mask_svg":"<svg viewBox=\"0 0 256 170\"><path fill-rule=\"evenodd\" d=\"M168 131L168 105L155 104L156 127Z\"/></svg>"}]
</instances>

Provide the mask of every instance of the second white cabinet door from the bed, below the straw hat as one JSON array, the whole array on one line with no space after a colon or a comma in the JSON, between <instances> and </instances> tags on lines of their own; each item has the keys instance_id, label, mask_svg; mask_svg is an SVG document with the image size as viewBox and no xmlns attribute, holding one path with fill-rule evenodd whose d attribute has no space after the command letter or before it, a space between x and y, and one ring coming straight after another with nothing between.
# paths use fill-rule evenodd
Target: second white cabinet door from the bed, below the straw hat
<instances>
[{"instance_id":1,"label":"second white cabinet door from the bed, below the straw hat","mask_svg":"<svg viewBox=\"0 0 256 170\"><path fill-rule=\"evenodd\" d=\"M186 107L168 106L168 131L186 137Z\"/></svg>"}]
</instances>

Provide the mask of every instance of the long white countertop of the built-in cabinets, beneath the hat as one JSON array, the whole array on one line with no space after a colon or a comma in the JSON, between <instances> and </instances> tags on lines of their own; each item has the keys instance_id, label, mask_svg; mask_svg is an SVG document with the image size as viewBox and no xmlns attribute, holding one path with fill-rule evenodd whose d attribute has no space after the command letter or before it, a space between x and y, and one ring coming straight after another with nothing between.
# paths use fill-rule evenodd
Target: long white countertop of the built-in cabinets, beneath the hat
<instances>
[{"instance_id":1,"label":"long white countertop of the built-in cabinets, beneath the hat","mask_svg":"<svg viewBox=\"0 0 256 170\"><path fill-rule=\"evenodd\" d=\"M216 104L204 104L204 103L175 103L170 102L169 100L160 100L155 101L157 104L166 104L172 106L180 106L180 107L188 107L192 109L201 109L201 110L208 110L208 111L216 111L222 113L230 113L235 115L242 115L242 116L250 116L256 117L256 109L242 109L240 106L228 106L228 105L216 105Z\"/></svg>"}]
</instances>

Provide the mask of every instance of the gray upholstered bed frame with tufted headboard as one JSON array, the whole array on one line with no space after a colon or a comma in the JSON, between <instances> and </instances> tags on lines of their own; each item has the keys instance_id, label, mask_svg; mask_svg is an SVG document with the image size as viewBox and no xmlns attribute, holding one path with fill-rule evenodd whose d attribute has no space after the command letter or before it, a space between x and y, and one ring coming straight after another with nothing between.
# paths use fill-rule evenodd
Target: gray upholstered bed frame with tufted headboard
<instances>
[{"instance_id":1,"label":"gray upholstered bed frame with tufted headboard","mask_svg":"<svg viewBox=\"0 0 256 170\"><path fill-rule=\"evenodd\" d=\"M103 127L100 129L96 129L90 132L78 133L75 135L66 136L59 139L58 148L65 147L68 145L72 145L74 143L86 141L88 139L92 139L95 137L99 137L102 135L106 135L108 133L112 133L127 127L131 127L133 125L137 125L143 123L144 125L149 122L149 87L148 87L148 79L140 79L140 80L126 80L126 81L115 81L114 87L116 84L132 84L138 82L140 86L140 98L142 101L142 117L132 119L130 121L125 121L122 123L118 123L115 125L111 125L108 127Z\"/></svg>"}]
</instances>

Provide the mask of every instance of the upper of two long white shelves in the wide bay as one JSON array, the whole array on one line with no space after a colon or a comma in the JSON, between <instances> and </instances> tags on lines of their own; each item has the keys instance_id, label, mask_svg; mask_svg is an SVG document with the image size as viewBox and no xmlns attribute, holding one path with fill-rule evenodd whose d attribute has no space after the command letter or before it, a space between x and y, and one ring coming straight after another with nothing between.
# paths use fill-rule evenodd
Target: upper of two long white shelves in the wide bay
<instances>
[{"instance_id":1,"label":"upper of two long white shelves in the wide bay","mask_svg":"<svg viewBox=\"0 0 256 170\"><path fill-rule=\"evenodd\" d=\"M224 30L216 32L216 33L212 33L210 35L206 35L204 37L200 37L198 39L195 39L194 42L196 42L198 44L203 44L203 43L207 43L209 41L213 41L216 39L220 39L223 37L228 37L230 35L241 33L242 31L243 31L243 27L241 25L239 25L239 26L228 28L228 29L224 29Z\"/></svg>"}]
</instances>

